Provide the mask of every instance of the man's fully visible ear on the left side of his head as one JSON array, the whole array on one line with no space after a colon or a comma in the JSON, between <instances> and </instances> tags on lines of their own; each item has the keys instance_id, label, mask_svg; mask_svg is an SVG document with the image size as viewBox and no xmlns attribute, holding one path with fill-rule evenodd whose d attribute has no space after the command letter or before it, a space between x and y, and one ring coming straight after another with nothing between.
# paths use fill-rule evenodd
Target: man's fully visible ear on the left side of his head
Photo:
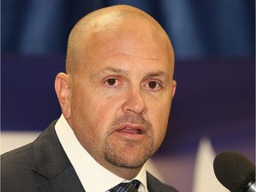
<instances>
[{"instance_id":1,"label":"man's fully visible ear on the left side of his head","mask_svg":"<svg viewBox=\"0 0 256 192\"><path fill-rule=\"evenodd\" d=\"M67 119L71 116L70 109L70 77L68 74L59 73L55 79L55 92L60 102L63 116Z\"/></svg>"}]
</instances>

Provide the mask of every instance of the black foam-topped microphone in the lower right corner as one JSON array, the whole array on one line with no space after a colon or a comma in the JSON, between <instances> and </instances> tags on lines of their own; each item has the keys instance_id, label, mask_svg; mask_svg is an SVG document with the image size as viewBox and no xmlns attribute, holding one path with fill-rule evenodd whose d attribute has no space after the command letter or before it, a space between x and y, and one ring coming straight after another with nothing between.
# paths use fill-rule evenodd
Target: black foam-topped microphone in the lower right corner
<instances>
[{"instance_id":1,"label":"black foam-topped microphone in the lower right corner","mask_svg":"<svg viewBox=\"0 0 256 192\"><path fill-rule=\"evenodd\" d=\"M215 157L213 169L220 183L231 192L256 192L255 165L235 151Z\"/></svg>"}]
</instances>

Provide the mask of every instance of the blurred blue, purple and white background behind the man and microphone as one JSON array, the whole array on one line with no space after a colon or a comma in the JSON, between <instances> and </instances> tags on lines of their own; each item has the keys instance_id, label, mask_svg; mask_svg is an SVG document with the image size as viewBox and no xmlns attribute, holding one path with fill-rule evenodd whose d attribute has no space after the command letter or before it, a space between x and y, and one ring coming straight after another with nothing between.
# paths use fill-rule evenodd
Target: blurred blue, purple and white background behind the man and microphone
<instances>
[{"instance_id":1,"label":"blurred blue, purple and white background behind the man and microphone","mask_svg":"<svg viewBox=\"0 0 256 192\"><path fill-rule=\"evenodd\" d=\"M153 16L176 55L178 88L154 172L180 191L226 191L214 156L236 150L255 162L254 0L2 0L1 153L59 118L54 78L65 70L68 34L84 14L113 4Z\"/></svg>"}]
</instances>

